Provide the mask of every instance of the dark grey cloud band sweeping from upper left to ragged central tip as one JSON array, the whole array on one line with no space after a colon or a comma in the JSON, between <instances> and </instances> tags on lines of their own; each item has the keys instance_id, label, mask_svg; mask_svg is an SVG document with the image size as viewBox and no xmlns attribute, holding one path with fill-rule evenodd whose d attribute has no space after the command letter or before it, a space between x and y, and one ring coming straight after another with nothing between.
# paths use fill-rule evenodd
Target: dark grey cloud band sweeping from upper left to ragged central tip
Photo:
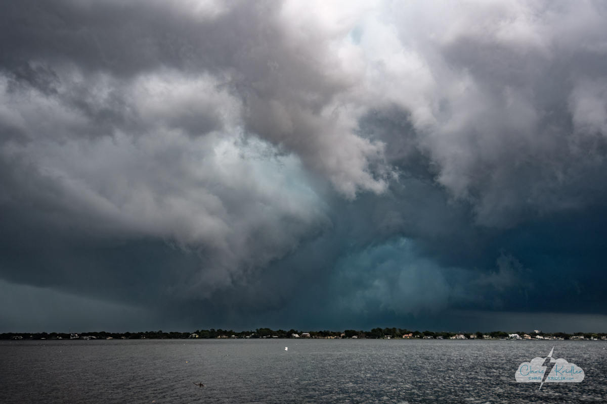
<instances>
[{"instance_id":1,"label":"dark grey cloud band sweeping from upper left to ragged central tip","mask_svg":"<svg viewBox=\"0 0 607 404\"><path fill-rule=\"evenodd\" d=\"M122 99L121 80L158 68L216 75L216 85L239 94L246 128L297 151L308 168L328 174L350 197L358 189L381 191L385 183L367 168L368 161L381 160L382 145L354 136L355 123L336 114L334 98L357 79L345 65L347 58L331 48L348 25L323 25L300 8L273 2L9 3L4 20L13 38L2 44L2 64L30 84L44 81L36 70L66 70L68 80L83 76L66 96L96 121L109 116L112 123L120 122L116 118L124 112L118 110L128 107L108 105L112 98ZM32 67L36 62L44 67ZM117 82L98 82L102 88L93 94L78 85L86 80L89 87L90 75L101 73ZM192 123L205 117L199 108L194 115L171 122L192 131ZM198 133L216 126L211 116Z\"/></svg>"}]
</instances>

